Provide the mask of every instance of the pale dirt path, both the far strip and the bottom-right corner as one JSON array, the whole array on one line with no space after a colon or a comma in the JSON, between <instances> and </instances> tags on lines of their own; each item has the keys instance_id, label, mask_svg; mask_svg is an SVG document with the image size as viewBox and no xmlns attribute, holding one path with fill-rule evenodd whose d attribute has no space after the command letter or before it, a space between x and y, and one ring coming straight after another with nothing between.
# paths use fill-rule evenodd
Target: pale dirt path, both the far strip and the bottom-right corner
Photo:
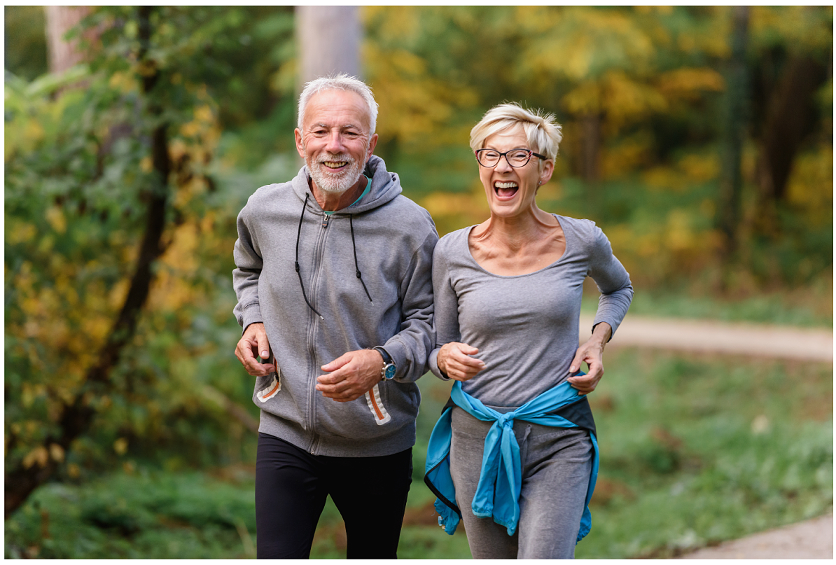
<instances>
[{"instance_id":1,"label":"pale dirt path, both the far strip and the bottom-right corner","mask_svg":"<svg viewBox=\"0 0 836 565\"><path fill-rule=\"evenodd\" d=\"M592 322L591 316L581 316L581 328L591 328ZM628 314L610 346L833 363L831 330L752 323L644 318ZM706 547L682 558L833 559L833 514Z\"/></svg>"}]
</instances>

